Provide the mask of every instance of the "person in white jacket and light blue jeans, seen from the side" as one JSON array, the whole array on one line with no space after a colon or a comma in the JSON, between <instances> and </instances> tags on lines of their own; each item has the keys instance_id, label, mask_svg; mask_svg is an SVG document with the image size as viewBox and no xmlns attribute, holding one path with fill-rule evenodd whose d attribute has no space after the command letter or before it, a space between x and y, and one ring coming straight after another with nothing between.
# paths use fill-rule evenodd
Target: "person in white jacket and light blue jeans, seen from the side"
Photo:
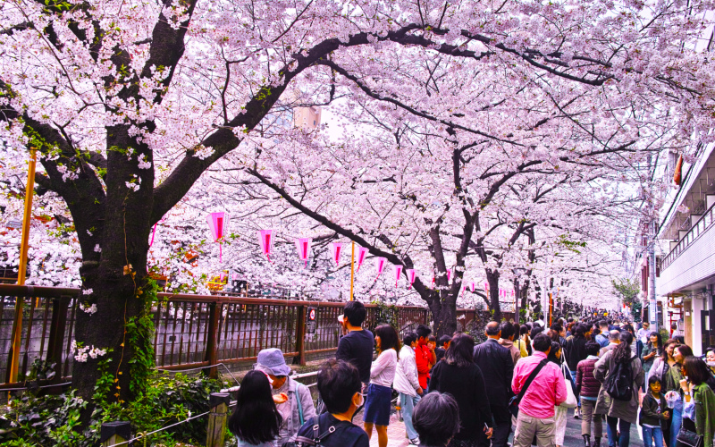
<instances>
[{"instance_id":1,"label":"person in white jacket and light blue jeans, seen from the side","mask_svg":"<svg viewBox=\"0 0 715 447\"><path fill-rule=\"evenodd\" d=\"M415 347L417 345L417 334L406 333L402 338L402 349L397 360L395 370L395 381L392 388L400 393L400 408L402 409L402 419L405 421L405 431L408 434L409 444L420 443L417 437L415 426L412 424L412 415L415 406L424 392L419 385L417 377L417 364L415 362Z\"/></svg>"}]
</instances>

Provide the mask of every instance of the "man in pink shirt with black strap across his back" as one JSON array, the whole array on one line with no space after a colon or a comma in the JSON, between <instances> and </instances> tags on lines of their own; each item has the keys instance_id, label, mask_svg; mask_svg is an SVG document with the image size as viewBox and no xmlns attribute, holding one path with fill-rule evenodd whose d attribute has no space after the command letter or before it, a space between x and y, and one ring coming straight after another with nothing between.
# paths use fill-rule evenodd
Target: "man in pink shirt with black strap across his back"
<instances>
[{"instance_id":1,"label":"man in pink shirt with black strap across his back","mask_svg":"<svg viewBox=\"0 0 715 447\"><path fill-rule=\"evenodd\" d=\"M554 407L566 401L566 382L559 367L547 360L551 339L545 333L538 333L532 344L534 355L517 362L511 381L511 391L519 394L529 375L537 367L541 368L518 403L514 447L531 447L534 437L538 447L552 447L556 428Z\"/></svg>"}]
</instances>

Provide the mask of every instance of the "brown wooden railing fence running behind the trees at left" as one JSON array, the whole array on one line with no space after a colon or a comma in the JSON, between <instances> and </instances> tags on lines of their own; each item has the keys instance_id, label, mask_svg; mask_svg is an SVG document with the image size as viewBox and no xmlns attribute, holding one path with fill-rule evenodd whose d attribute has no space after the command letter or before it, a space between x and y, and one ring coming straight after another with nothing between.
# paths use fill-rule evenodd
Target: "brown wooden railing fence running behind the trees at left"
<instances>
[{"instance_id":1,"label":"brown wooden railing fence running behind the trees at left","mask_svg":"<svg viewBox=\"0 0 715 447\"><path fill-rule=\"evenodd\" d=\"M20 350L20 376L29 374L33 362L56 362L55 383L71 379L78 289L0 284L0 389L21 387L10 383L13 319L16 299L24 300ZM271 298L238 298L221 295L160 293L152 309L156 333L156 367L181 370L210 367L217 373L224 365L255 361L258 351L280 348L293 363L329 355L337 349L340 327L337 317L345 303ZM307 333L308 309L315 309L315 333ZM429 324L426 308L395 309L367 304L366 326L384 320L385 312L401 335L416 325ZM396 315L395 315L396 314ZM458 310L459 329L479 315L478 310ZM484 318L484 316L481 316ZM507 316L509 317L509 316Z\"/></svg>"}]
</instances>

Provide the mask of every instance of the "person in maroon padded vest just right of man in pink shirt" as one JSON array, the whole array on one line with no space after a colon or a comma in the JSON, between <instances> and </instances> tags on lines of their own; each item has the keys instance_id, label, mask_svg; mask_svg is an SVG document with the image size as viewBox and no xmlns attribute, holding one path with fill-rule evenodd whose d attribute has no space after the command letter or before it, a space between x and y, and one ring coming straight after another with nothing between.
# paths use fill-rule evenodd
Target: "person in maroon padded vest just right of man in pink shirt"
<instances>
[{"instance_id":1,"label":"person in maroon padded vest just right of man in pink shirt","mask_svg":"<svg viewBox=\"0 0 715 447\"><path fill-rule=\"evenodd\" d=\"M585 348L587 357L576 366L576 394L581 397L581 435L584 437L584 446L592 447L591 426L593 425L593 447L601 447L603 421L601 415L595 414L601 382L593 376L601 345L598 342L587 342Z\"/></svg>"}]
</instances>

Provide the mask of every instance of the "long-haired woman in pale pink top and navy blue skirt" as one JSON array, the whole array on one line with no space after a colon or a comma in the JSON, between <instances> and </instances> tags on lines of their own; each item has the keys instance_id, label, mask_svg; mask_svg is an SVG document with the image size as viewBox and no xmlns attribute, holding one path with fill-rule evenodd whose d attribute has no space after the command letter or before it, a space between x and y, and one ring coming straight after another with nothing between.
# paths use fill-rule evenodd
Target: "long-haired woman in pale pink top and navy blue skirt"
<instances>
[{"instance_id":1,"label":"long-haired woman in pale pink top and navy blue skirt","mask_svg":"<svg viewBox=\"0 0 715 447\"><path fill-rule=\"evenodd\" d=\"M372 437L374 426L377 431L379 447L387 447L387 426L390 425L392 382L395 380L400 340L394 327L391 325L379 325L374 330L374 342L378 356L370 368L370 384L367 386L363 421L367 437Z\"/></svg>"}]
</instances>

